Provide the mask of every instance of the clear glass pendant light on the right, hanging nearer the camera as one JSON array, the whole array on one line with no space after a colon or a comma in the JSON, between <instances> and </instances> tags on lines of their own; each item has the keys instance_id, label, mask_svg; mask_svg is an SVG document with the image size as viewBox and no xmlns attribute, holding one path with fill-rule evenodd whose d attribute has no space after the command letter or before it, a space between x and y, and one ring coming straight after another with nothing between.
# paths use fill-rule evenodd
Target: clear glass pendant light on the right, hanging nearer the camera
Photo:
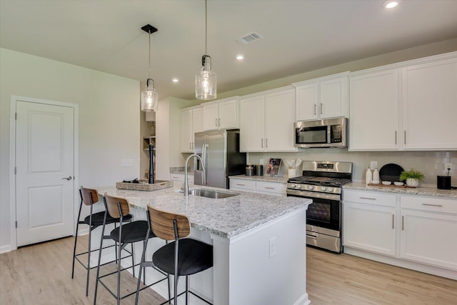
<instances>
[{"instance_id":1,"label":"clear glass pendant light on the right, hanging nearer the camera","mask_svg":"<svg viewBox=\"0 0 457 305\"><path fill-rule=\"evenodd\" d=\"M205 0L205 54L201 57L201 71L195 75L195 97L197 99L216 99L216 73L211 71L211 57L208 54L208 13Z\"/></svg>"}]
</instances>

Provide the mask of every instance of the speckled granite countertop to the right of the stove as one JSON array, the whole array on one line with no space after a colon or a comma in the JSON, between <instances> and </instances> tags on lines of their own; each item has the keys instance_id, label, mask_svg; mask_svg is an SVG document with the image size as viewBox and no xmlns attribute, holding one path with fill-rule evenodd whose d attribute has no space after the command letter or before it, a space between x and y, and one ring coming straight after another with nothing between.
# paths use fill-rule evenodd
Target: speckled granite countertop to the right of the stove
<instances>
[{"instance_id":1,"label":"speckled granite countertop to the right of the stove","mask_svg":"<svg viewBox=\"0 0 457 305\"><path fill-rule=\"evenodd\" d=\"M383 193L396 193L421 196L436 196L457 199L456 189L436 189L433 187L387 187L368 186L364 183L352 182L343 185L343 189L357 189L359 191L381 191Z\"/></svg>"}]
</instances>

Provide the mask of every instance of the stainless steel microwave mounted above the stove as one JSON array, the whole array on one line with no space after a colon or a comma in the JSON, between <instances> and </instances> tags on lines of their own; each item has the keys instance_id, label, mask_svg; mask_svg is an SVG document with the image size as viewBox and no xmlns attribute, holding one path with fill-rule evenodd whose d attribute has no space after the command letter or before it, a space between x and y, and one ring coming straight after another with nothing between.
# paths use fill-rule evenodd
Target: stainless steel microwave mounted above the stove
<instances>
[{"instance_id":1,"label":"stainless steel microwave mounted above the stove","mask_svg":"<svg viewBox=\"0 0 457 305\"><path fill-rule=\"evenodd\" d=\"M339 117L293 124L295 147L348 147L348 119Z\"/></svg>"}]
</instances>

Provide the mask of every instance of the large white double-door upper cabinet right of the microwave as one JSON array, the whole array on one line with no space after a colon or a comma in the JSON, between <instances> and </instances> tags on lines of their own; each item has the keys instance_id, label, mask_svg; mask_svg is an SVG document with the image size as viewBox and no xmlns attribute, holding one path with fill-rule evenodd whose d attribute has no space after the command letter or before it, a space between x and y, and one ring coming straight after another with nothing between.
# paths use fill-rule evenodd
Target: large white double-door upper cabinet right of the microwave
<instances>
[{"instance_id":1,"label":"large white double-door upper cabinet right of the microwave","mask_svg":"<svg viewBox=\"0 0 457 305\"><path fill-rule=\"evenodd\" d=\"M456 150L457 52L352 73L349 150Z\"/></svg>"}]
</instances>

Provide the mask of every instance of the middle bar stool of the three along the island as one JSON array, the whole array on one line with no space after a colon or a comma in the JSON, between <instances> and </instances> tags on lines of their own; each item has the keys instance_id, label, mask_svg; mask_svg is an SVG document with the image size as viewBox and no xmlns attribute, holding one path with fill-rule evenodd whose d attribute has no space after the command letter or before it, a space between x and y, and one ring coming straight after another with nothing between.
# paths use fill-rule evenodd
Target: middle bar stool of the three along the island
<instances>
[{"instance_id":1,"label":"middle bar stool of the three along the island","mask_svg":"<svg viewBox=\"0 0 457 305\"><path fill-rule=\"evenodd\" d=\"M106 288L106 290L109 291L109 293L114 296L117 299L117 304L120 304L121 299L126 298L127 296L131 296L132 294L135 294L136 291L131 292L130 294L126 294L125 296L120 295L121 291L121 271L125 271L128 269L133 270L133 274L135 276L135 267L139 266L140 264L135 264L134 262L134 243L137 241L145 241L147 239L150 239L151 237L156 237L156 235L149 230L149 224L148 221L146 220L139 220L139 221L131 221L128 224L124 224L124 217L129 215L130 213L130 204L127 199L121 198L121 197L116 197L116 196L110 196L108 194L104 195L104 203L105 203L105 216L104 216L104 223L103 223L103 229L101 230L102 234L102 239L100 241L100 249L103 249L103 241L104 239L111 239L113 240L117 247L117 256L119 256L119 262L117 264L117 271L111 272L109 274L104 274L103 276L100 276L100 262L101 262L101 253L99 255L99 264L97 266L97 275L96 275L96 284L95 284L95 293L94 293L94 305L96 304L96 298L97 298L97 289L99 286L99 283ZM109 235L104 235L105 234L105 226L106 226L106 219L108 219L108 215L111 216L114 219L119 219L120 225L113 229ZM125 249L127 244L131 245L131 251L128 251ZM129 255L121 257L122 250L126 251ZM126 259L129 256L131 256L131 262L132 265L126 268L121 268L121 259ZM141 268L141 267L140 267ZM116 294L114 294L111 289L102 281L104 277L110 276L112 274L117 274L117 289L116 289ZM164 278L166 279L166 277ZM163 281L162 279L161 281ZM147 288L147 287L145 287Z\"/></svg>"}]
</instances>

